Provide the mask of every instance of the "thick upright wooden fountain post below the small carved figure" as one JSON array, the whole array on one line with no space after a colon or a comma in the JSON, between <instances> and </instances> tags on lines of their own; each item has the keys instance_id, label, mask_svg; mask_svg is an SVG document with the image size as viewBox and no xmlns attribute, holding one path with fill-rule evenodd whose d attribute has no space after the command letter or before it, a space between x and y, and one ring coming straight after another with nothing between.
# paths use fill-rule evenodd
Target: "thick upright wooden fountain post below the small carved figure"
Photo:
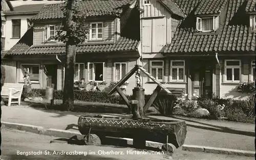
<instances>
[{"instance_id":1,"label":"thick upright wooden fountain post below the small carved figure","mask_svg":"<svg viewBox=\"0 0 256 160\"><path fill-rule=\"evenodd\" d=\"M138 100L138 104L132 104L132 114L134 119L141 118L143 107L145 105L145 89L135 87L133 89L133 99Z\"/></svg>"}]
</instances>

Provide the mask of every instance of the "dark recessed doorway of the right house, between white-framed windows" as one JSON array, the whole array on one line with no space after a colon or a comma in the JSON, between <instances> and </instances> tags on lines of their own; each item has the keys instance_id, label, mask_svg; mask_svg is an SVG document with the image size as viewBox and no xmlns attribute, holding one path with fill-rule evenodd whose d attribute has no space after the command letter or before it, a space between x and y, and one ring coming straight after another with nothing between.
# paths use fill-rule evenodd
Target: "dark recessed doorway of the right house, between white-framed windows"
<instances>
[{"instance_id":1,"label":"dark recessed doorway of the right house, between white-framed windows","mask_svg":"<svg viewBox=\"0 0 256 160\"><path fill-rule=\"evenodd\" d=\"M192 94L195 93L199 97L211 94L214 64L210 60L197 60L191 64Z\"/></svg>"}]
</instances>

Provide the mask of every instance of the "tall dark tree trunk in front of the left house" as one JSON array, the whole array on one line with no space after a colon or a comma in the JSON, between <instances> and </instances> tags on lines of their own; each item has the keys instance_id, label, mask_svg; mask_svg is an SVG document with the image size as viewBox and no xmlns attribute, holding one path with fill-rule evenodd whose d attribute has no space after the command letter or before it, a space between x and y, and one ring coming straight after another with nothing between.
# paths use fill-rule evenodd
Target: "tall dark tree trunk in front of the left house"
<instances>
[{"instance_id":1,"label":"tall dark tree trunk in front of the left house","mask_svg":"<svg viewBox=\"0 0 256 160\"><path fill-rule=\"evenodd\" d=\"M69 40L66 43L66 65L65 65L65 82L63 89L63 105L68 111L74 109L74 66L76 62L76 44L70 39L70 35L74 34L70 30L72 25L76 23L73 21L73 9L78 7L79 0L67 1L67 36Z\"/></svg>"}]
</instances>

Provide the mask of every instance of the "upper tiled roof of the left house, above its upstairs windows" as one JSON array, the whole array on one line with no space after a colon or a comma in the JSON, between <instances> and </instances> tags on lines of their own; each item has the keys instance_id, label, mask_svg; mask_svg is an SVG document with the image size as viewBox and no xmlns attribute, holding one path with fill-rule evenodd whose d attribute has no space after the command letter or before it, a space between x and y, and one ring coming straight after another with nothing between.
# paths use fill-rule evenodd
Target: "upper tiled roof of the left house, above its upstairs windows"
<instances>
[{"instance_id":1,"label":"upper tiled roof of the left house, above its upstairs windows","mask_svg":"<svg viewBox=\"0 0 256 160\"><path fill-rule=\"evenodd\" d=\"M125 5L128 5L130 0L93 0L81 1L81 11L86 16L103 16L103 15L117 15L122 13ZM45 5L44 8L31 20L50 20L63 18L63 11L61 7L64 3Z\"/></svg>"}]
</instances>

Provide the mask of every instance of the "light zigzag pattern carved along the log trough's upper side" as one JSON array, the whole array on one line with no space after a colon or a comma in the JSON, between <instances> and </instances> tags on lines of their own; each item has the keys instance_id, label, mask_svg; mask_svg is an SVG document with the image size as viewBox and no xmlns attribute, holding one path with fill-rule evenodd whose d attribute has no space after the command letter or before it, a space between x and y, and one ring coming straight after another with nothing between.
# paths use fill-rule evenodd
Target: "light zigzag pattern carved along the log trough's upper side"
<instances>
[{"instance_id":1,"label":"light zigzag pattern carved along the log trough's upper side","mask_svg":"<svg viewBox=\"0 0 256 160\"><path fill-rule=\"evenodd\" d=\"M137 125L137 126L144 126L144 125L150 125L150 126L159 126L159 127L163 127L163 126L165 126L165 124L158 124L158 123L148 123L148 122L146 122L146 123L143 123L143 122L132 122L132 121L130 121L130 122L128 122L128 121L117 121L117 120L115 120L115 121L113 121L113 120L101 120L101 119L92 119L92 118L86 118L85 119L87 122L92 122L92 123L95 123L95 122L97 122L97 123L103 123L103 124L113 124L113 125L133 125L133 126L135 126L135 125Z\"/></svg>"}]
</instances>

